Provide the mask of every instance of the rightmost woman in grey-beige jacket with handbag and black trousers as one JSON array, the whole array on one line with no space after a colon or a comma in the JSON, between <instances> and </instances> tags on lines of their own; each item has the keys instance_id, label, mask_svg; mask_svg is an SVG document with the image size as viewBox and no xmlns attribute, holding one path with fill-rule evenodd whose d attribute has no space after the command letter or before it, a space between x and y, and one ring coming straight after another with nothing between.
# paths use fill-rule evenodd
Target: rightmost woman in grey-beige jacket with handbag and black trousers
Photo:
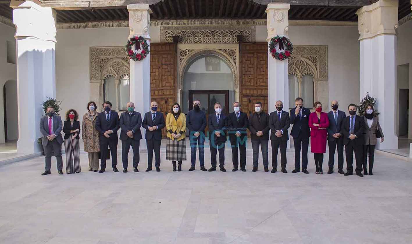
<instances>
[{"instance_id":1,"label":"rightmost woman in grey-beige jacket with handbag and black trousers","mask_svg":"<svg viewBox=\"0 0 412 244\"><path fill-rule=\"evenodd\" d=\"M368 175L366 164L369 155L369 175L373 175L372 168L376 145L376 133L379 131L378 133L381 134L381 143L384 141L384 133L382 132L378 116L375 114L375 109L372 104L367 104L365 106L365 114L363 117L365 120L365 133L363 133L363 137L365 138L365 143L363 145L363 174Z\"/></svg>"}]
</instances>

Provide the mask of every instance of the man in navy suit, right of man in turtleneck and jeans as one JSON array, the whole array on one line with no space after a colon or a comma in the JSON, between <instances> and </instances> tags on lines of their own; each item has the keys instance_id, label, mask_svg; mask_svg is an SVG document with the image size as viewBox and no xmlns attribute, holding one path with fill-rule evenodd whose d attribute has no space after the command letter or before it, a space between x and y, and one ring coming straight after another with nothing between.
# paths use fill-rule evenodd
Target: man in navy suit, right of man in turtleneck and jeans
<instances>
[{"instance_id":1,"label":"man in navy suit, right of man in turtleneck and jeans","mask_svg":"<svg viewBox=\"0 0 412 244\"><path fill-rule=\"evenodd\" d=\"M219 150L219 167L220 171L226 172L225 169L225 143L226 134L223 131L227 124L227 116L222 113L222 105L215 103L215 113L209 115L209 140L212 168L209 172L216 170L216 155Z\"/></svg>"}]
</instances>

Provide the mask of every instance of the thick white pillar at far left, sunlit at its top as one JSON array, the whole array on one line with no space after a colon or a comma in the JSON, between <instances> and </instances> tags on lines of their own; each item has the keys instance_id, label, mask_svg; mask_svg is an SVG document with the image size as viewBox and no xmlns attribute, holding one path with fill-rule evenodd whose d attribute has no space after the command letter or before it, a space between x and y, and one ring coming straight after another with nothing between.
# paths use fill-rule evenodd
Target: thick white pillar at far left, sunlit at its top
<instances>
[{"instance_id":1,"label":"thick white pillar at far left, sunlit at its top","mask_svg":"<svg viewBox=\"0 0 412 244\"><path fill-rule=\"evenodd\" d=\"M56 97L56 12L30 1L12 0L16 25L19 140L17 152L40 152L41 106Z\"/></svg>"}]
</instances>

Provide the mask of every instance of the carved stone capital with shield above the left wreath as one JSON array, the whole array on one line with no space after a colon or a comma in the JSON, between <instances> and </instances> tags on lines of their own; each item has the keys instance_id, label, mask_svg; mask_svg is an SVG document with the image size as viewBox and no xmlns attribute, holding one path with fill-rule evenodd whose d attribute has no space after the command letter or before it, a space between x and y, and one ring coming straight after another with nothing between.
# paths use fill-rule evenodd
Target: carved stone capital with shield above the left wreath
<instances>
[{"instance_id":1,"label":"carved stone capital with shield above the left wreath","mask_svg":"<svg viewBox=\"0 0 412 244\"><path fill-rule=\"evenodd\" d=\"M129 11L129 38L133 36L142 36L150 40L150 14L152 10L148 4L138 3L127 5Z\"/></svg>"}]
</instances>

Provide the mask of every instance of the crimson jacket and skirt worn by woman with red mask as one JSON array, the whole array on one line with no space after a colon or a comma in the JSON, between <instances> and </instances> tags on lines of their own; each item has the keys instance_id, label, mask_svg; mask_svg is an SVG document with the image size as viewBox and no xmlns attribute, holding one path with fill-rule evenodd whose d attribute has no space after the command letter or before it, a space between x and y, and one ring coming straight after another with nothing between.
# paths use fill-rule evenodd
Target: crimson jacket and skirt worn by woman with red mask
<instances>
[{"instance_id":1,"label":"crimson jacket and skirt worn by woman with red mask","mask_svg":"<svg viewBox=\"0 0 412 244\"><path fill-rule=\"evenodd\" d=\"M319 124L319 127L313 124ZM309 127L310 131L310 146L313 153L325 153L326 152L326 138L328 137L329 119L327 113L321 113L321 122L318 122L318 115L313 112L309 115ZM319 129L326 128L326 129Z\"/></svg>"}]
</instances>

